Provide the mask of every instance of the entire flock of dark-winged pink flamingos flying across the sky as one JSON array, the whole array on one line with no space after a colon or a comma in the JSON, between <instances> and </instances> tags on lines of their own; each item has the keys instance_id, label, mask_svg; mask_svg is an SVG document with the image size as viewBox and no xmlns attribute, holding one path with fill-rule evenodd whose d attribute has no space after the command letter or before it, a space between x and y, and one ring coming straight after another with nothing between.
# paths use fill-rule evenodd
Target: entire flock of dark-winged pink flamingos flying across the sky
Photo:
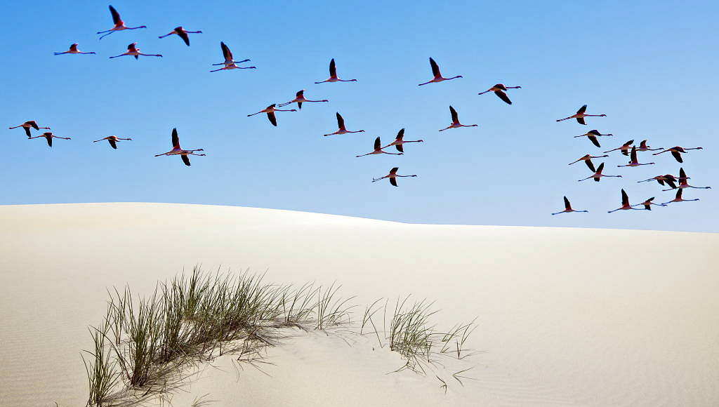
<instances>
[{"instance_id":1,"label":"entire flock of dark-winged pink flamingos flying across the sky","mask_svg":"<svg viewBox=\"0 0 719 407\"><path fill-rule=\"evenodd\" d=\"M138 25L134 27L129 27L125 24L124 20L120 16L119 12L113 7L109 6L109 11L111 14L113 27L110 29L99 31L97 32L97 35L100 35L99 40L102 40L104 37L107 37L109 35L114 34L115 32L120 31L126 31L126 30L137 30L137 29L147 29L147 26L145 25ZM171 27L171 26L170 26ZM188 29L185 29L182 26L175 27L172 29L172 31L168 32L165 35L158 36L158 39L163 39L165 37L170 37L172 35L177 35L180 37L180 39L185 43L186 46L190 46L190 35L196 35L201 34L201 30L195 30L190 31ZM113 55L109 58L120 58L123 56L132 56L136 60L139 59L140 56L152 56L161 58L162 54L148 54L140 52L140 48L137 47L138 42L132 42L129 45L127 45L127 51L123 52L119 55ZM242 59L242 60L235 60L234 55L232 54L232 50L225 44L224 41L220 42L220 50L222 58L224 59L221 63L214 63L211 64L212 66L218 66L221 68L212 69L209 72L215 73L219 72L221 70L246 70L246 69L257 69L256 66L244 66L241 64L250 62L249 58ZM70 45L69 49L64 52L53 52L54 55L95 55L96 52L83 52L78 49L78 43L73 43ZM455 75L455 76L449 76L445 77L442 75L441 70L439 68L439 65L436 63L434 58L429 58L429 65L431 68L431 74L432 78L429 81L419 83L418 86L425 86L429 85L430 83L441 83L444 81L452 81L454 79L463 78L462 75ZM329 61L329 78L326 78L324 81L316 81L315 84L321 84L321 83L336 83L336 82L358 82L357 79L343 79L340 78L337 74L337 66L334 58L331 58ZM501 101L505 102L505 104L512 105L513 102L508 96L508 92L510 89L520 89L521 86L505 86L503 83L496 83L495 85L491 86L490 88L487 88L486 91L481 91L477 93L478 95L483 95L485 93L495 93L495 96L498 97ZM286 99L285 99L286 100ZM257 111L256 113L247 114L247 116L255 116L257 114L265 113L267 115L267 120L270 122L270 124L273 125L273 127L278 126L278 120L276 116L276 112L278 111L298 111L302 109L303 104L308 103L329 103L328 99L307 99L305 97L305 89L302 89L301 91L297 91L295 97L290 100L286 101L284 103L280 104L270 104L265 109L262 109L260 111ZM292 104L297 104L297 109L280 109L284 106L290 106ZM478 127L478 124L462 124L462 122L459 121L459 114L457 113L457 110L454 109L453 106L449 106L449 113L452 119L452 123L449 124L449 126L444 127L443 129L439 129L439 132L444 132L448 129L459 129L461 127ZM605 117L606 114L587 114L587 105L583 105L576 111L576 113L572 114L571 116L564 117L563 119L557 119L557 122L564 122L567 120L575 119L577 123L586 125L586 119L588 117ZM354 134L354 133L362 133L365 132L363 129L359 130L348 130L344 118L342 115L339 114L339 112L336 113L336 122L337 122L337 130L335 132L331 132L329 134L323 134L324 137L329 136L335 136L335 135L342 135L342 134ZM40 127L35 120L29 120L27 122L24 122L22 124L19 124L14 127L9 127L9 129L18 129L22 128L27 135L28 140L37 139L44 137L47 141L47 145L49 147L52 147L52 140L53 139L61 139L61 140L71 140L70 137L59 137L53 134L52 132L43 132L42 134L38 134L35 136L32 136L32 130L40 131L40 129L50 130L50 127ZM408 143L423 143L424 140L418 139L418 140L404 140L405 135L405 129L400 129L398 134L396 135L395 139L390 142L388 145L383 145L381 141L381 137L377 136L375 138L375 142L372 148L372 151L367 152L365 154L356 155L355 157L365 157L369 155L404 155L405 149L404 145ZM577 136L574 136L574 138L579 137L587 137L587 139L597 148L601 148L600 144L600 137L612 137L612 133L602 133L597 129L592 129L589 132L586 132L585 134L580 134ZM107 141L110 145L110 147L113 150L117 150L117 145L119 142L122 141L129 141L132 140L130 137L117 137L115 135L108 136L108 137L102 137L99 140L93 140L93 142L102 142ZM176 128L172 129L171 132L171 145L172 150L168 152L163 152L161 154L155 155L155 157L160 157L164 155L180 155L181 159L183 160L184 165L190 166L190 157L191 155L194 156L205 156L206 154L203 153L202 148L198 149L191 149L186 150L183 149L183 147L180 147L180 139L178 136L178 131ZM389 147L395 147L397 152L388 152L385 151L385 149L388 149ZM594 163L592 162L592 159L598 159L598 158L605 158L609 157L608 153L619 151L620 154L629 157L629 161L627 164L624 165L617 165L618 168L633 168L633 167L640 167L644 165L656 165L656 163L640 163L638 153L639 152L653 152L652 155L662 155L665 152L671 152L672 156L678 163L684 163L682 155L687 154L690 150L702 150L702 147L671 147L671 148L651 148L648 145L648 140L642 140L638 146L634 145L634 140L629 140L619 147L613 148L611 150L607 150L603 152L603 155L592 155L590 153L587 153L580 157L579 159L573 161L572 163L569 163L569 165L572 165L574 163L579 163L580 161L583 161L585 165L587 165L587 168L591 171L591 174L587 176L587 178L582 178L579 181L589 180L593 179L595 182L600 182L601 178L623 178L623 175L617 174L617 175L607 175L603 173L605 169L605 163L600 163L597 167L595 167ZM654 152L657 151L657 152ZM644 160L642 160L644 161ZM380 180L388 179L391 186L398 186L397 178L413 178L417 177L418 175L412 174L412 175L399 175L398 174L398 167L393 167L390 169L390 172L387 175L384 175L380 178L372 178L372 183L375 183ZM684 168L679 168L679 175L671 175L671 174L664 174L664 175L656 175L652 178L648 178L646 180L638 180L636 182L638 183L646 183L651 181L656 181L659 183L660 186L668 186L668 189L663 189L662 191L674 191L676 190L676 196L671 201L665 202L663 204L655 204L654 199L655 197L651 197L646 199L645 201L639 203L639 204L631 204L628 193L622 188L621 189L621 206L608 211L608 213L613 213L615 211L628 211L628 210L642 210L636 208L637 206L643 207L643 210L651 211L651 206L667 206L667 204L676 203L676 202L684 202L684 201L698 201L699 198L695 199L684 199L682 198L682 191L687 188L695 188L695 189L709 189L711 187L709 186L692 186L689 183L690 177L687 176L687 174L684 172ZM556 213L553 213L552 215L557 214L566 214L571 212L588 212L587 210L576 210L572 208L572 205L569 202L569 198L567 196L564 196L564 210L559 211Z\"/></svg>"}]
</instances>

